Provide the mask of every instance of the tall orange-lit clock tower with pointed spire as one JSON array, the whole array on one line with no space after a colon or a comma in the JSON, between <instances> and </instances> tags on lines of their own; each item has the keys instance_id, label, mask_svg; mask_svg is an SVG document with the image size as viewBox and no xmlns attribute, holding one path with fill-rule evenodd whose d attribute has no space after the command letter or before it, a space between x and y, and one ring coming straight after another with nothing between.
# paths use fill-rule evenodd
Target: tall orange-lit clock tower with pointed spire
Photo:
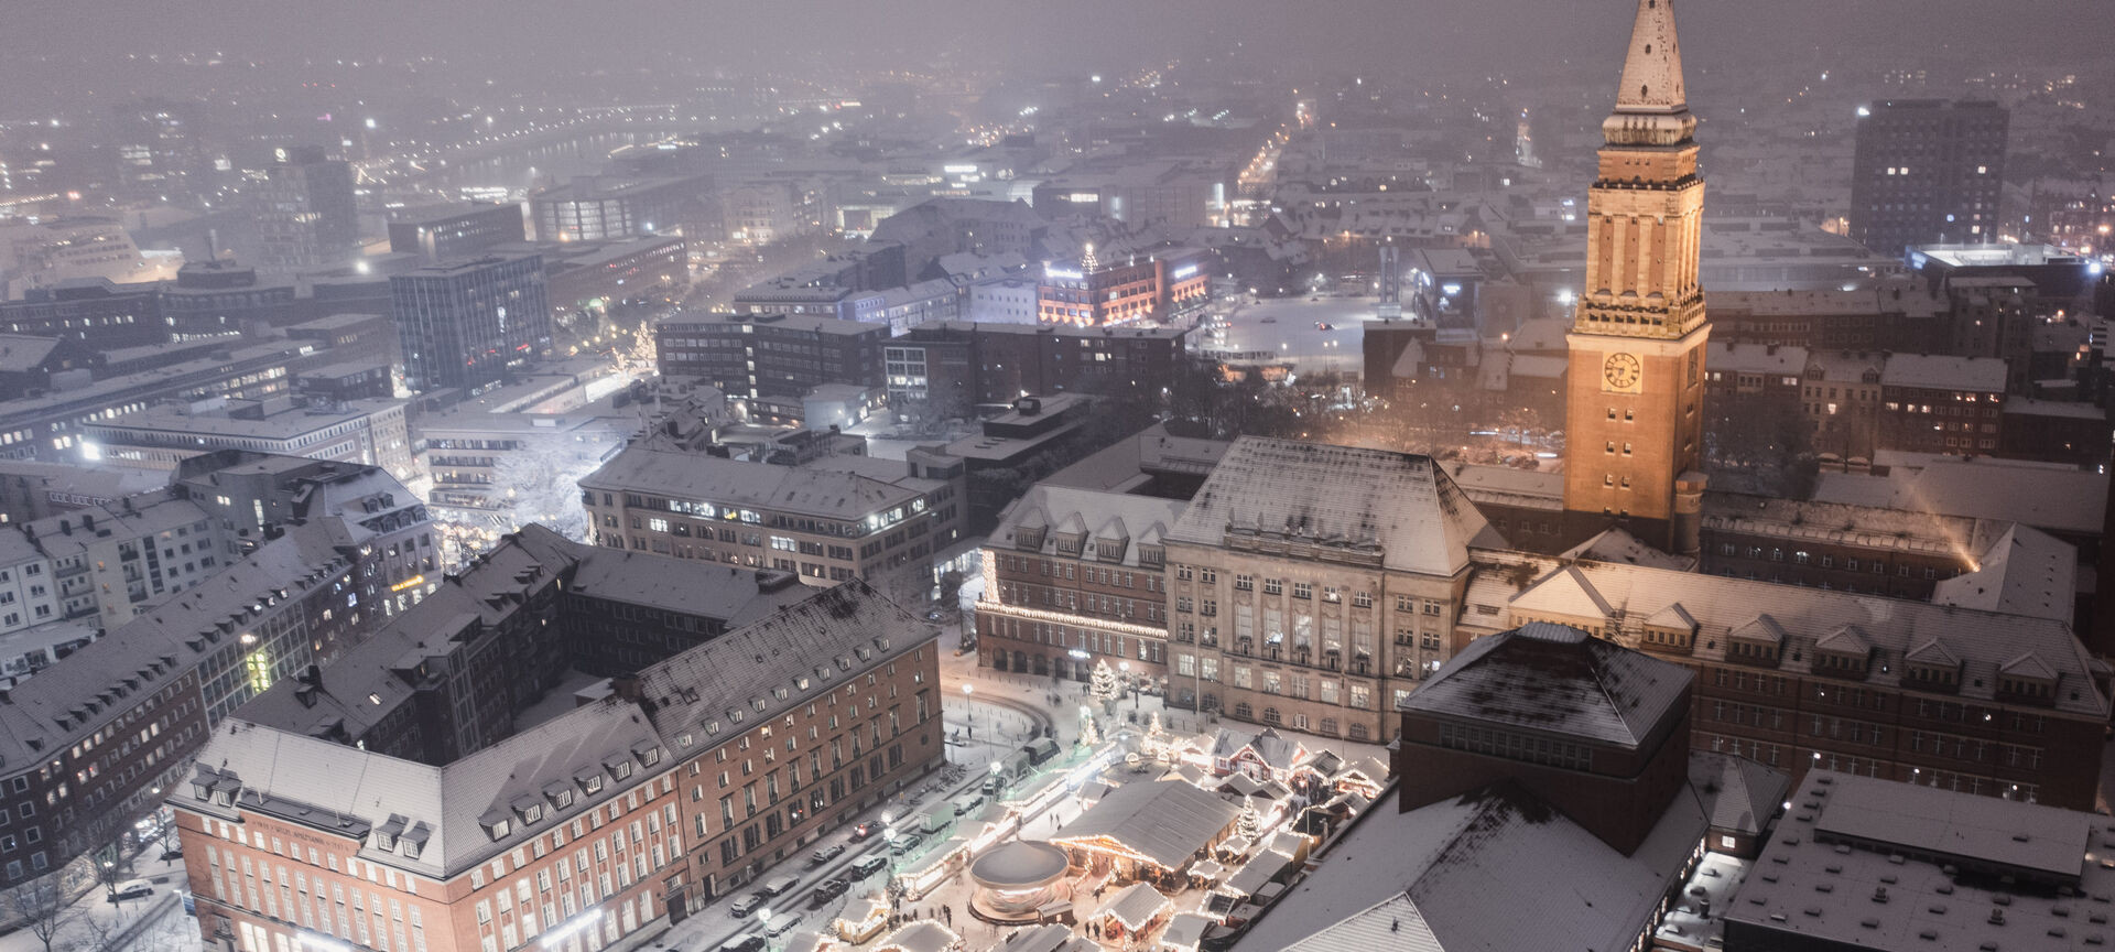
<instances>
[{"instance_id":1,"label":"tall orange-lit clock tower with pointed spire","mask_svg":"<svg viewBox=\"0 0 2115 952\"><path fill-rule=\"evenodd\" d=\"M1673 0L1637 0L1616 112L1586 193L1586 275L1571 319L1565 520L1696 552L1703 504L1703 360L1696 283L1705 184L1681 89Z\"/></svg>"}]
</instances>

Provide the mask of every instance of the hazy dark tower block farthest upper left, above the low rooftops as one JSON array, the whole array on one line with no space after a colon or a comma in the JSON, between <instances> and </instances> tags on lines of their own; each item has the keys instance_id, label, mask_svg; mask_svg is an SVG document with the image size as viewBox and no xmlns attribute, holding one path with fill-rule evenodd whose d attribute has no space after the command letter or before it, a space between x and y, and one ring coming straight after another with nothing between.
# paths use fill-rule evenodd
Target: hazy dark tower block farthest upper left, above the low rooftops
<instances>
[{"instance_id":1,"label":"hazy dark tower block farthest upper left, above the low rooftops","mask_svg":"<svg viewBox=\"0 0 2115 952\"><path fill-rule=\"evenodd\" d=\"M252 214L258 267L264 271L328 269L360 256L360 207L353 167L321 148L279 148Z\"/></svg>"}]
</instances>

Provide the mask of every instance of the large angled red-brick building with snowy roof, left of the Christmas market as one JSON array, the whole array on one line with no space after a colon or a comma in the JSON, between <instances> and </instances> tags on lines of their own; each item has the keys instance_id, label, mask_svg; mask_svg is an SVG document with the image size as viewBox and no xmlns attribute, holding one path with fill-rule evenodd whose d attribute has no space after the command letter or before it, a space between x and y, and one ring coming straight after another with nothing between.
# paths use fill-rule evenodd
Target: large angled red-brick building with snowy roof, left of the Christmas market
<instances>
[{"instance_id":1,"label":"large angled red-brick building with snowy roof, left of the Christmas market","mask_svg":"<svg viewBox=\"0 0 2115 952\"><path fill-rule=\"evenodd\" d=\"M171 787L207 941L599 950L753 880L943 747L931 635L859 582L448 759L279 721L332 677L216 732Z\"/></svg>"}]
</instances>

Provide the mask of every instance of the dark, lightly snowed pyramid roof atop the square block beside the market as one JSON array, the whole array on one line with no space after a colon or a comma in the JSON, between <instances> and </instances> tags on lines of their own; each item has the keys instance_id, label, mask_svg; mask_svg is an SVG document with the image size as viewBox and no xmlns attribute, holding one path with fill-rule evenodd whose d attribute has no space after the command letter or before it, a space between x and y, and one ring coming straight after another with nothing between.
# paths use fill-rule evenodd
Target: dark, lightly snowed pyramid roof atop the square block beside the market
<instances>
[{"instance_id":1,"label":"dark, lightly snowed pyramid roof atop the square block beside the market","mask_svg":"<svg viewBox=\"0 0 2115 952\"><path fill-rule=\"evenodd\" d=\"M1529 622L1470 641L1402 711L1639 747L1681 715L1690 679L1580 628Z\"/></svg>"}]
</instances>

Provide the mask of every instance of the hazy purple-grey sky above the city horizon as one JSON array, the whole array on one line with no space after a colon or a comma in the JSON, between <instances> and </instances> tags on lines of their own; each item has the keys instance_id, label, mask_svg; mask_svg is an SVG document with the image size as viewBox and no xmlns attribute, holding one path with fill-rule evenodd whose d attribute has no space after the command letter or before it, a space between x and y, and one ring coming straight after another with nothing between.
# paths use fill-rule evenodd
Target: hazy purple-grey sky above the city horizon
<instances>
[{"instance_id":1,"label":"hazy purple-grey sky above the city horizon","mask_svg":"<svg viewBox=\"0 0 2115 952\"><path fill-rule=\"evenodd\" d=\"M814 55L920 66L939 51L977 49L1049 70L1199 55L1239 38L1250 51L1309 61L1481 74L1616 57L1633 8L1633 0L4 0L0 44L85 66L224 49L347 59L482 53L550 72L622 70L664 51L747 68ZM1679 17L1688 57L1705 63L1804 59L1815 47L1969 59L2115 49L2107 0L1681 0Z\"/></svg>"}]
</instances>

